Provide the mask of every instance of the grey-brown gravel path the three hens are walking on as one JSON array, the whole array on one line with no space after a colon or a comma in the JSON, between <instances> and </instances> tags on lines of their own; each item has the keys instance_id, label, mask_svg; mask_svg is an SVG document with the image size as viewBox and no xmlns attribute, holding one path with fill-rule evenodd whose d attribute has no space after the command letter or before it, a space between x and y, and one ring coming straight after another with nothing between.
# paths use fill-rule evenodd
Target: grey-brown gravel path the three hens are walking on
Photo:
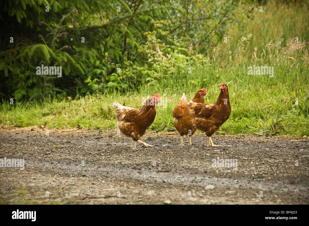
<instances>
[{"instance_id":1,"label":"grey-brown gravel path the three hens are walking on","mask_svg":"<svg viewBox=\"0 0 309 226\"><path fill-rule=\"evenodd\" d=\"M150 132L133 151L115 130L32 128L0 130L0 159L25 160L0 168L2 204L309 204L307 138Z\"/></svg>"}]
</instances>

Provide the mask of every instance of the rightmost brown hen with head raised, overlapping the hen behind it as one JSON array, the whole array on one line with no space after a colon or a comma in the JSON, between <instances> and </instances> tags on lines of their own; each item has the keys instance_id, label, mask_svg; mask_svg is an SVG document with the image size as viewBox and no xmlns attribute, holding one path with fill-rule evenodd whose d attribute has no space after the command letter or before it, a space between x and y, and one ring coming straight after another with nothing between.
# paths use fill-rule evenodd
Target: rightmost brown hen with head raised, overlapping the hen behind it
<instances>
[{"instance_id":1,"label":"rightmost brown hen with head raised, overlapping the hen behind it","mask_svg":"<svg viewBox=\"0 0 309 226\"><path fill-rule=\"evenodd\" d=\"M189 112L193 117L193 124L197 129L202 130L208 136L207 146L221 146L214 145L211 140L213 135L221 127L221 125L230 118L231 105L230 97L226 84L221 82L220 94L218 99L210 105L200 103L188 103Z\"/></svg>"}]
</instances>

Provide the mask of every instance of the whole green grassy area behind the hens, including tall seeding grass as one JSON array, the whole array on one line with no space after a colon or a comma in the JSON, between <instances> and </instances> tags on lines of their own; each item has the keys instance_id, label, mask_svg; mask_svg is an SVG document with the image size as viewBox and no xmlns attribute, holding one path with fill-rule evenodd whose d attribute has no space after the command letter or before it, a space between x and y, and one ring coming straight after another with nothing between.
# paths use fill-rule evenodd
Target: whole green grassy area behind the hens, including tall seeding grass
<instances>
[{"instance_id":1,"label":"whole green grassy area behind the hens, including tall seeding grass","mask_svg":"<svg viewBox=\"0 0 309 226\"><path fill-rule=\"evenodd\" d=\"M183 92L191 99L205 87L205 100L209 101L206 103L213 103L223 81L229 88L232 113L218 133L259 134L262 130L263 134L308 136L308 11L306 3L289 7L270 2L263 13L255 11L254 19L247 19L242 29L232 27L226 31L228 43L220 42L208 61L189 62L195 68L192 74L176 67L174 73L162 75L158 84L143 84L144 90L125 94L78 96L70 102L49 99L40 104L4 102L0 106L0 124L40 127L46 122L48 128L116 128L113 101L139 108L143 98L158 93L165 106L156 107L157 116L149 130L167 130L174 128L171 111ZM239 41L248 34L253 34L251 39ZM299 43L294 42L295 37ZM248 75L248 67L253 64L273 66L274 77Z\"/></svg>"}]
</instances>

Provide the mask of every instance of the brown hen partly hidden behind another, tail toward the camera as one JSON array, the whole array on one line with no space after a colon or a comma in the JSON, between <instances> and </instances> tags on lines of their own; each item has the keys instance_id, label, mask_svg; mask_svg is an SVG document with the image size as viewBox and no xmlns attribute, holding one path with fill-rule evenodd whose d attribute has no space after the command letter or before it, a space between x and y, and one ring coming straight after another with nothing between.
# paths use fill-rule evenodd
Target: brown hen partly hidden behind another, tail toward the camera
<instances>
[{"instance_id":1,"label":"brown hen partly hidden behind another, tail toward the camera","mask_svg":"<svg viewBox=\"0 0 309 226\"><path fill-rule=\"evenodd\" d=\"M204 97L206 94L206 89L202 88L195 93L192 101L197 103L204 103ZM188 134L188 145L191 145L191 136L195 133L196 128L193 125L193 117L189 113L188 101L185 94L182 95L179 103L172 110L172 116L174 117L173 125L181 136L180 145L184 145L183 136Z\"/></svg>"}]
</instances>

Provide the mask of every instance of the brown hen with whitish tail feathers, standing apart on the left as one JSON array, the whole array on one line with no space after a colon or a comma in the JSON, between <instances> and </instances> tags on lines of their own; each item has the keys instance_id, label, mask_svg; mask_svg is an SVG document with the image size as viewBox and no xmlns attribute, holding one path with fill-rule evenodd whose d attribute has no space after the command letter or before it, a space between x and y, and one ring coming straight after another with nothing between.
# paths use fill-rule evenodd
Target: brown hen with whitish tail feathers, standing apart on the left
<instances>
[{"instance_id":1,"label":"brown hen with whitish tail feathers, standing apart on the left","mask_svg":"<svg viewBox=\"0 0 309 226\"><path fill-rule=\"evenodd\" d=\"M120 133L131 137L134 141L134 146L131 149L137 150L136 142L143 144L145 147L153 147L140 141L139 138L146 133L147 128L155 120L155 105L158 105L158 103L160 103L160 97L156 93L154 97L146 100L144 105L139 109L122 106L116 101L113 103L116 112L117 127Z\"/></svg>"}]
</instances>

